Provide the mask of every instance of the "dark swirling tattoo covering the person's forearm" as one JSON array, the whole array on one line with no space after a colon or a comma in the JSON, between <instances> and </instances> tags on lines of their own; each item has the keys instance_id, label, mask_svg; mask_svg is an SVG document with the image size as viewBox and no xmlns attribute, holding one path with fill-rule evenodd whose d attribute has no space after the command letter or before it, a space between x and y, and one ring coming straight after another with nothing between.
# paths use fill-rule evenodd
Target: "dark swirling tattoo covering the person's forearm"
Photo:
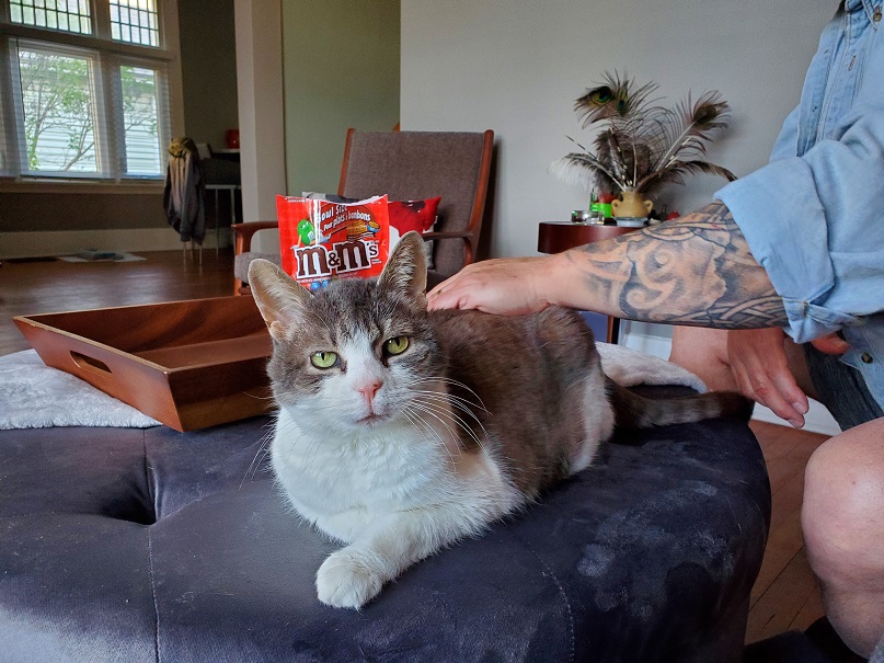
<instances>
[{"instance_id":1,"label":"dark swirling tattoo covering the person's forearm","mask_svg":"<svg viewBox=\"0 0 884 663\"><path fill-rule=\"evenodd\" d=\"M787 321L782 298L730 210L708 205L682 220L587 244L570 259L620 317L749 329Z\"/></svg>"}]
</instances>

